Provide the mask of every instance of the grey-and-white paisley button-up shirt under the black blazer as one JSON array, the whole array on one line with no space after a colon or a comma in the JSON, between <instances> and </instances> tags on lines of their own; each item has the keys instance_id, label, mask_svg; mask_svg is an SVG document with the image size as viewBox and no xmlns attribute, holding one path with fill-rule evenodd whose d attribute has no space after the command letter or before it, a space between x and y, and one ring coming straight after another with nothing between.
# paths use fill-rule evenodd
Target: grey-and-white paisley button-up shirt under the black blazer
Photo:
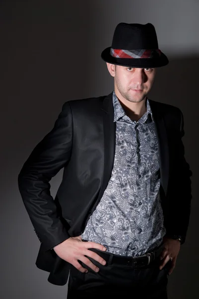
<instances>
[{"instance_id":1,"label":"grey-and-white paisley button-up shirt under the black blazer","mask_svg":"<svg viewBox=\"0 0 199 299\"><path fill-rule=\"evenodd\" d=\"M140 256L160 245L166 233L159 195L159 150L152 111L136 122L113 92L116 148L106 190L88 219L82 239L107 252Z\"/></svg>"}]
</instances>

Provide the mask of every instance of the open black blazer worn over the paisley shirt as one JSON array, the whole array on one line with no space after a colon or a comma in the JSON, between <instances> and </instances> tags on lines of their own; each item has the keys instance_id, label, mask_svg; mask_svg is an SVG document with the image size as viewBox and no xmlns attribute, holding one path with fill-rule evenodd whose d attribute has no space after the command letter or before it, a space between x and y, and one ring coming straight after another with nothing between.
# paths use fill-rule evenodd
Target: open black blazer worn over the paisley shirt
<instances>
[{"instance_id":1,"label":"open black blazer worn over the paisley shirt","mask_svg":"<svg viewBox=\"0 0 199 299\"><path fill-rule=\"evenodd\" d=\"M160 198L167 235L181 235L190 218L192 171L184 157L183 114L179 108L149 100L160 152ZM51 248L83 233L111 177L116 123L112 93L68 101L54 128L33 149L19 175L25 208L41 242L36 266L48 281L65 285L70 264ZM49 181L64 167L55 200Z\"/></svg>"}]
</instances>

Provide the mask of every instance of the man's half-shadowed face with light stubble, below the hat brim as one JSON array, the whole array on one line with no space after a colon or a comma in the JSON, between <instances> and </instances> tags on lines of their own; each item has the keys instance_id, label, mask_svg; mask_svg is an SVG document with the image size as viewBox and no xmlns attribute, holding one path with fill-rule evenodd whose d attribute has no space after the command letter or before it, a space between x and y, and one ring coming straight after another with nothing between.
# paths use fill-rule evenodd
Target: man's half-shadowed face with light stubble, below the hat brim
<instances>
[{"instance_id":1,"label":"man's half-shadowed face with light stubble, below the hat brim","mask_svg":"<svg viewBox=\"0 0 199 299\"><path fill-rule=\"evenodd\" d=\"M115 91L127 101L141 102L150 91L155 78L155 68L133 68L107 63L110 74L115 77Z\"/></svg>"}]
</instances>

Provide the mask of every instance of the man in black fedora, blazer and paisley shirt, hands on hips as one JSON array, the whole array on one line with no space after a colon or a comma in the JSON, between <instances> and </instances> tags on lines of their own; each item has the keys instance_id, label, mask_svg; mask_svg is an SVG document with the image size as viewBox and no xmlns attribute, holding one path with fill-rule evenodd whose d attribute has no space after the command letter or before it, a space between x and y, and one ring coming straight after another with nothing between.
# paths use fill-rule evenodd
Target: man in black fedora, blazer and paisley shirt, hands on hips
<instances>
[{"instance_id":1,"label":"man in black fedora, blazer and paisley shirt, hands on hips","mask_svg":"<svg viewBox=\"0 0 199 299\"><path fill-rule=\"evenodd\" d=\"M66 102L18 177L41 242L36 265L55 285L70 270L68 299L164 299L192 198L183 114L147 98L168 64L152 24L119 23L101 56L114 91ZM49 181L63 167L53 200Z\"/></svg>"}]
</instances>

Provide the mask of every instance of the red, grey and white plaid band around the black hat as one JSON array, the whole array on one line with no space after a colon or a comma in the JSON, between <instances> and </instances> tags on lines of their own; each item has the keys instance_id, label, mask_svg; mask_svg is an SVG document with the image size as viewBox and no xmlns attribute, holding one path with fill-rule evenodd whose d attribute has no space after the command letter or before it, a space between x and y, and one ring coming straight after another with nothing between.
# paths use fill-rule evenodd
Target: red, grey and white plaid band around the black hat
<instances>
[{"instance_id":1,"label":"red, grey and white plaid band around the black hat","mask_svg":"<svg viewBox=\"0 0 199 299\"><path fill-rule=\"evenodd\" d=\"M159 49L122 50L110 49L110 54L116 58L157 58L161 55Z\"/></svg>"}]
</instances>

